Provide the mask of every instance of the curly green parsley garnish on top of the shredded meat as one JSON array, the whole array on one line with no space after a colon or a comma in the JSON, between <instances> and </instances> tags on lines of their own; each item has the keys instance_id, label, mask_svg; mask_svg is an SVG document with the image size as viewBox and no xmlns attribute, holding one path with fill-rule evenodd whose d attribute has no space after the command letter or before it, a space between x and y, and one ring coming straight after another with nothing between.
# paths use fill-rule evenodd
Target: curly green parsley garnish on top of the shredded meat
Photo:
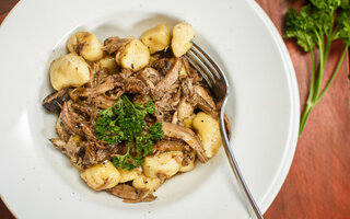
<instances>
[{"instance_id":1,"label":"curly green parsley garnish on top of the shredded meat","mask_svg":"<svg viewBox=\"0 0 350 219\"><path fill-rule=\"evenodd\" d=\"M95 124L97 138L110 145L127 143L127 152L112 159L115 166L132 170L152 153L154 141L164 135L162 123L152 126L144 123L144 117L154 112L152 100L145 104L132 104L126 95L121 95L112 107L98 112ZM131 143L136 146L136 157L130 154Z\"/></svg>"}]
</instances>

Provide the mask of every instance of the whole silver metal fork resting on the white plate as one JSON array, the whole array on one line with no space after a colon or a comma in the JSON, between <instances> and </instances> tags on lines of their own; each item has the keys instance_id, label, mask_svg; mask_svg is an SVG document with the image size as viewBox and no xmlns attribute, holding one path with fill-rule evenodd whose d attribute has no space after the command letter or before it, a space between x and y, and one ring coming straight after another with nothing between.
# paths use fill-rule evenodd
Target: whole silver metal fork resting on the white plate
<instances>
[{"instance_id":1,"label":"whole silver metal fork resting on the white plate","mask_svg":"<svg viewBox=\"0 0 350 219\"><path fill-rule=\"evenodd\" d=\"M219 102L222 102L220 108L220 132L230 165L238 182L241 193L246 201L246 207L249 211L250 218L264 219L259 207L256 205L254 197L252 196L249 188L244 181L238 163L233 154L233 150L230 147L224 123L224 108L230 93L228 79L223 71L219 68L219 66L213 61L213 59L195 43L190 50L187 51L185 57L205 78L217 100Z\"/></svg>"}]
</instances>

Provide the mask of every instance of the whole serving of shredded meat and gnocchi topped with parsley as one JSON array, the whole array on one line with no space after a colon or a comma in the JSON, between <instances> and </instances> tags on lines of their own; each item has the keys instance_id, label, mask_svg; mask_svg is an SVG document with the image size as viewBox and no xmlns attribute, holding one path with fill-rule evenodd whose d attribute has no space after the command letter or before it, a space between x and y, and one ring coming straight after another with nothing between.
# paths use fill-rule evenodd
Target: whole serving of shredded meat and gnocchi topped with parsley
<instances>
[{"instance_id":1,"label":"whole serving of shredded meat and gnocchi topped with parsley","mask_svg":"<svg viewBox=\"0 0 350 219\"><path fill-rule=\"evenodd\" d=\"M112 36L103 45L79 32L50 66L56 92L43 105L59 113L51 143L91 188L126 203L154 200L162 184L221 146L217 102L183 57L195 33L185 22L173 30L172 39L160 24L141 41Z\"/></svg>"}]
</instances>

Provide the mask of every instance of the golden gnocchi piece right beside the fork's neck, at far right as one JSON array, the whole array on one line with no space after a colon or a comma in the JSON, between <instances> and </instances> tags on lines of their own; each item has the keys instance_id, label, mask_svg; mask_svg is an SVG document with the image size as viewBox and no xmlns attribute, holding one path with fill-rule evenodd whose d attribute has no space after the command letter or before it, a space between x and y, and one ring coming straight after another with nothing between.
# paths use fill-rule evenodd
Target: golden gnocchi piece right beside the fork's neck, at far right
<instances>
[{"instance_id":1,"label":"golden gnocchi piece right beside the fork's neck, at far right","mask_svg":"<svg viewBox=\"0 0 350 219\"><path fill-rule=\"evenodd\" d=\"M192 128L201 138L206 155L212 158L222 143L219 122L210 115L199 112L194 118Z\"/></svg>"}]
</instances>

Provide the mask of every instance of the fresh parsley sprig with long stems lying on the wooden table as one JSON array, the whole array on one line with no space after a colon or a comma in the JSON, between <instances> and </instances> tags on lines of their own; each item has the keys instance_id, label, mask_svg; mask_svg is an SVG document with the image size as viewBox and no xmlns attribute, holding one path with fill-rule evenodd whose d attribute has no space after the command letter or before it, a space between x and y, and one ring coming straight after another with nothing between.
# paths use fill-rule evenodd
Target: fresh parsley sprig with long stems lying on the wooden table
<instances>
[{"instance_id":1,"label":"fresh parsley sprig with long stems lying on the wooden table","mask_svg":"<svg viewBox=\"0 0 350 219\"><path fill-rule=\"evenodd\" d=\"M301 116L299 136L302 135L312 108L325 95L334 82L342 59L350 45L350 10L349 0L311 0L311 4L301 8L299 13L289 9L285 15L287 38L296 38L296 43L305 51L310 51L312 60L312 78L306 107ZM329 48L334 41L340 38L345 48L331 78L322 91L320 84ZM315 48L318 48L319 61L316 66Z\"/></svg>"}]
</instances>

